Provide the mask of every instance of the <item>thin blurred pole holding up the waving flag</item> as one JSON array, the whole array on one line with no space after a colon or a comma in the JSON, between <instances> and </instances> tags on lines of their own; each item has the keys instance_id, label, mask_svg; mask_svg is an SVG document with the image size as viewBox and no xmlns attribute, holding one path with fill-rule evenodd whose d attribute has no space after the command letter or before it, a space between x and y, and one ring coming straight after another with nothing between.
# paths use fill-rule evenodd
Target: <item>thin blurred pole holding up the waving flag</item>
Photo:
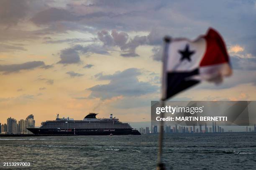
<instances>
[{"instance_id":1,"label":"thin blurred pole holding up the waving flag","mask_svg":"<svg viewBox=\"0 0 256 170\"><path fill-rule=\"evenodd\" d=\"M163 51L163 72L162 72L162 97L161 97L161 107L165 107L166 100L166 64L167 64L167 55L169 49L169 43L171 41L170 37L164 37L164 51ZM161 113L164 117L165 112ZM165 170L164 163L162 162L162 152L163 152L163 139L164 138L164 121L160 121L160 133L159 133L159 151L157 157L157 170Z\"/></svg>"}]
</instances>

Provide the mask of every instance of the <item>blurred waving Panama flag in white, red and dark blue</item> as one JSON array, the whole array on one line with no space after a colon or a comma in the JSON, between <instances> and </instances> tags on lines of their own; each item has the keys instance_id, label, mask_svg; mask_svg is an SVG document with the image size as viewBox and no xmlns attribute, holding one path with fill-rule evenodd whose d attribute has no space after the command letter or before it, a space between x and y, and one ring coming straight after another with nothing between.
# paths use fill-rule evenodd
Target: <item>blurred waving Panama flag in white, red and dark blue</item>
<instances>
[{"instance_id":1,"label":"blurred waving Panama flag in white, red and dark blue","mask_svg":"<svg viewBox=\"0 0 256 170\"><path fill-rule=\"evenodd\" d=\"M209 28L196 40L165 38L162 100L202 80L220 83L232 70L225 43Z\"/></svg>"}]
</instances>

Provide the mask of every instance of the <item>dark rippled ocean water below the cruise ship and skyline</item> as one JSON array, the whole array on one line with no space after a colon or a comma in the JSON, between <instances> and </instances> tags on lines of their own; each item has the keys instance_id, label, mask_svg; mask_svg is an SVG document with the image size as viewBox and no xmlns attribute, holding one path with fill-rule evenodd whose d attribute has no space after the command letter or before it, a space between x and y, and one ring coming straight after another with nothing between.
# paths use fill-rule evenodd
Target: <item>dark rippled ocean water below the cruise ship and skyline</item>
<instances>
[{"instance_id":1,"label":"dark rippled ocean water below the cruise ship and skyline","mask_svg":"<svg viewBox=\"0 0 256 170\"><path fill-rule=\"evenodd\" d=\"M0 169L155 170L157 151L156 134L7 137L0 138ZM163 159L174 170L256 170L256 133L165 135Z\"/></svg>"}]
</instances>

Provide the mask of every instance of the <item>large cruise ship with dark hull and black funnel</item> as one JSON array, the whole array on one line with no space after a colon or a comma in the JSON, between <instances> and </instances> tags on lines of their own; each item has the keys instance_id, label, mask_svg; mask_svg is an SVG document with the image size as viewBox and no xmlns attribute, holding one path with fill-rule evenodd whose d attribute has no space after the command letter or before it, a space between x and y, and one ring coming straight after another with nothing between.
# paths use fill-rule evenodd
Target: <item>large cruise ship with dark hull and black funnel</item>
<instances>
[{"instance_id":1,"label":"large cruise ship with dark hull and black funnel","mask_svg":"<svg viewBox=\"0 0 256 170\"><path fill-rule=\"evenodd\" d=\"M35 135L141 135L128 123L120 122L110 114L110 118L96 118L97 113L89 113L83 120L69 117L41 122L39 128L27 128Z\"/></svg>"}]
</instances>

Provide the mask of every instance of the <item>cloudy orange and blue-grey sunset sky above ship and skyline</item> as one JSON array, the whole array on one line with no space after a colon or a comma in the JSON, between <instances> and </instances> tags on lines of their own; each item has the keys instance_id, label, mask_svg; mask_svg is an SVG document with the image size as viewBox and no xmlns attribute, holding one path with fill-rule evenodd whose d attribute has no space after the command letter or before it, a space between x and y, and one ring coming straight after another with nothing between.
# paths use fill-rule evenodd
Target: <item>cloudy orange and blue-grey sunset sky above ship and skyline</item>
<instances>
[{"instance_id":1,"label":"cloudy orange and blue-grey sunset sky above ship and skyline","mask_svg":"<svg viewBox=\"0 0 256 170\"><path fill-rule=\"evenodd\" d=\"M148 122L164 35L225 40L233 75L171 100L256 100L254 0L1 0L0 122L111 113Z\"/></svg>"}]
</instances>

